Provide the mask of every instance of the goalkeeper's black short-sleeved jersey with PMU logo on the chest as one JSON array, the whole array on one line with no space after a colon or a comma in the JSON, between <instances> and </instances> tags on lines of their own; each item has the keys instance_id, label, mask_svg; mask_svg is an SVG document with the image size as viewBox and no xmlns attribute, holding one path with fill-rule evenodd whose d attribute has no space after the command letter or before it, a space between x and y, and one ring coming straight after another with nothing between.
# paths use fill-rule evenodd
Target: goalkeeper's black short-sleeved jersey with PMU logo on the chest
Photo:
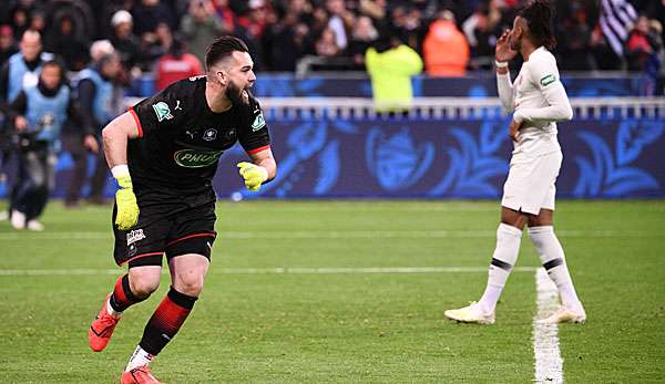
<instances>
[{"instance_id":1,"label":"goalkeeper's black short-sleeved jersey with PMU logo on the chest","mask_svg":"<svg viewBox=\"0 0 665 384\"><path fill-rule=\"evenodd\" d=\"M213 113L205 76L181 80L145 98L130 112L139 138L127 144L130 173L137 194L187 195L212 190L217 159L236 142L248 154L269 148L268 127L258 102Z\"/></svg>"}]
</instances>

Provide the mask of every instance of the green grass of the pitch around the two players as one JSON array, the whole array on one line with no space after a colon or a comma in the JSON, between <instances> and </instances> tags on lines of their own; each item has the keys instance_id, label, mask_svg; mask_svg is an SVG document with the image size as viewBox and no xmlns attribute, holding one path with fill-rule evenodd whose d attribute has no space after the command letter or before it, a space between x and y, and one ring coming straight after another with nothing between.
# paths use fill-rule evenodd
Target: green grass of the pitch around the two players
<instances>
[{"instance_id":1,"label":"green grass of the pitch around the two players","mask_svg":"<svg viewBox=\"0 0 665 384\"><path fill-rule=\"evenodd\" d=\"M227 273L278 267L485 268L495 241L497 203L221 201L217 208L219 235L204 293L152 364L162 381L533 380L533 272L511 274L492 326L443 319L443 310L480 297L483 271ZM65 210L53 203L42 233L17 232L0 222L0 271L100 272L0 274L0 382L119 381L168 277L147 302L127 311L104 352L91 352L90 321L122 273L103 273L114 268L110 215L109 207ZM560 326L564 380L662 380L665 201L562 201L555 220L589 314L584 325ZM518 266L539 266L526 236Z\"/></svg>"}]
</instances>

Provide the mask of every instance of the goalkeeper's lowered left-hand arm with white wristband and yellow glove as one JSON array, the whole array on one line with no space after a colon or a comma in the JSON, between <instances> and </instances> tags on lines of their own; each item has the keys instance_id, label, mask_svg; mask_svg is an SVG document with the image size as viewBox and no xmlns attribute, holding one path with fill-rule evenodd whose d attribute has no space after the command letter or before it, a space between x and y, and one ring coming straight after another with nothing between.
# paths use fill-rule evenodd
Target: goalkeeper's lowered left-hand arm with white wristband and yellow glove
<instances>
[{"instance_id":1,"label":"goalkeeper's lowered left-hand arm with white wristband and yellow glove","mask_svg":"<svg viewBox=\"0 0 665 384\"><path fill-rule=\"evenodd\" d=\"M127 139L136 137L139 127L129 112L115 117L102 129L106 163L117 183L115 225L121 230L127 230L139 221L139 205L127 167Z\"/></svg>"}]
</instances>

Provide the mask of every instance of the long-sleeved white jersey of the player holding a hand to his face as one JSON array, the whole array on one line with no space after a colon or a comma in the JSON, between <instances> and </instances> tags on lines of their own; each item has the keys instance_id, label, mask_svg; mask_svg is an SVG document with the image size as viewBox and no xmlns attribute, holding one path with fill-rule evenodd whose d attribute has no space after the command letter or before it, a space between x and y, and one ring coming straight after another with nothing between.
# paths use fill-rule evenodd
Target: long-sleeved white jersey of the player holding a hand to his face
<instances>
[{"instance_id":1,"label":"long-sleeved white jersey of the player holding a hand to his face","mask_svg":"<svg viewBox=\"0 0 665 384\"><path fill-rule=\"evenodd\" d=\"M561 84L556 60L545 48L533 51L511 84L510 73L497 74L499 97L513 120L523 122L513 155L541 156L561 151L556 121L571 120L573 110Z\"/></svg>"}]
</instances>

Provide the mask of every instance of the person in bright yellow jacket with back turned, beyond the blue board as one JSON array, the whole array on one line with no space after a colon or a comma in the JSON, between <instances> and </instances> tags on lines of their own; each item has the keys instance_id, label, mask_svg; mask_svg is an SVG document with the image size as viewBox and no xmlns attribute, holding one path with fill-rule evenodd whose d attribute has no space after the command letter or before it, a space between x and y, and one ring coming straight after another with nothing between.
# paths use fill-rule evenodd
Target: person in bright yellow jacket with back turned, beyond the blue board
<instances>
[{"instance_id":1,"label":"person in bright yellow jacket with back turned, beyond the blue board","mask_svg":"<svg viewBox=\"0 0 665 384\"><path fill-rule=\"evenodd\" d=\"M379 112L406 112L413 98L411 76L422 71L418 52L397 38L383 38L365 58ZM396 106L398 104L399 106Z\"/></svg>"}]
</instances>

